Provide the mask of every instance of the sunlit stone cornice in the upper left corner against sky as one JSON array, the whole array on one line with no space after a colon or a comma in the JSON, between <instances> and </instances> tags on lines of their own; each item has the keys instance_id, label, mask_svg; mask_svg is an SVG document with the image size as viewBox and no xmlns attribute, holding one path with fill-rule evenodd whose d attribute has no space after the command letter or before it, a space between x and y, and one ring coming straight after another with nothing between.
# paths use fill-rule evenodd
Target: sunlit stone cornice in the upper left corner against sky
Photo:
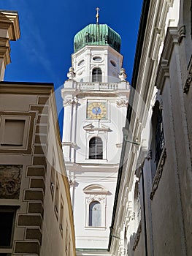
<instances>
[{"instance_id":1,"label":"sunlit stone cornice in the upper left corner against sky","mask_svg":"<svg viewBox=\"0 0 192 256\"><path fill-rule=\"evenodd\" d=\"M20 38L18 12L0 11L0 29L7 29L9 40L16 41Z\"/></svg>"}]
</instances>

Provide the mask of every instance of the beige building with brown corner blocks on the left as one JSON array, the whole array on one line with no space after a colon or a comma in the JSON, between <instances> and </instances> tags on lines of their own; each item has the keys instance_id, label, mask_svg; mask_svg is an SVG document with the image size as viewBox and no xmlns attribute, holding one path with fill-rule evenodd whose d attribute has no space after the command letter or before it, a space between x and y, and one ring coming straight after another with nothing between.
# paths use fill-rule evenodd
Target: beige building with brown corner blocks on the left
<instances>
[{"instance_id":1,"label":"beige building with brown corner blocks on the left","mask_svg":"<svg viewBox=\"0 0 192 256\"><path fill-rule=\"evenodd\" d=\"M0 252L75 255L72 206L53 85L2 82L0 88L0 182L7 184L0 189L0 211L2 206L5 209L16 206L12 246L0 247ZM59 187L57 212L55 191L51 193L50 184L53 151ZM10 182L12 189L9 189Z\"/></svg>"}]
</instances>

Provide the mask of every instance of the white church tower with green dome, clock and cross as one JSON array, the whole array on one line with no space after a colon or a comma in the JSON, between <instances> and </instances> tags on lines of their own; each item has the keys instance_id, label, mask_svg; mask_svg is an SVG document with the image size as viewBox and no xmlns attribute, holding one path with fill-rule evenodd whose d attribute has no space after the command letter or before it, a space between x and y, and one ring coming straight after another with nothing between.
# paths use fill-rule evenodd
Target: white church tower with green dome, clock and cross
<instances>
[{"instance_id":1,"label":"white church tower with green dome, clock and cross","mask_svg":"<svg viewBox=\"0 0 192 256\"><path fill-rule=\"evenodd\" d=\"M90 24L74 37L64 99L63 152L74 211L77 255L107 255L129 83L120 36Z\"/></svg>"}]
</instances>

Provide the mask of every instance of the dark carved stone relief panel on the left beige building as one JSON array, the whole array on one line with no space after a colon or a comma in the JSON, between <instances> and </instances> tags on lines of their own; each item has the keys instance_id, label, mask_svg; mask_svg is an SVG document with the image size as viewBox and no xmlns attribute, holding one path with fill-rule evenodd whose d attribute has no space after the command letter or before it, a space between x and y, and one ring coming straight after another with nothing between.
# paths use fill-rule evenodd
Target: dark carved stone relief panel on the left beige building
<instances>
[{"instance_id":1,"label":"dark carved stone relief panel on the left beige building","mask_svg":"<svg viewBox=\"0 0 192 256\"><path fill-rule=\"evenodd\" d=\"M0 165L0 198L18 199L22 165Z\"/></svg>"}]
</instances>

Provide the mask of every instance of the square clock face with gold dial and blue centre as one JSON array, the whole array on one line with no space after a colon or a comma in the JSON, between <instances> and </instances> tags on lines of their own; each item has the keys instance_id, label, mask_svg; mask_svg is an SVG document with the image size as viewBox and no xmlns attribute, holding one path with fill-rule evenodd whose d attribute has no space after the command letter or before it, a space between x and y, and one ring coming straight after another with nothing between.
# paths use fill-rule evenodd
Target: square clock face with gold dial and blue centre
<instances>
[{"instance_id":1,"label":"square clock face with gold dial and blue centre","mask_svg":"<svg viewBox=\"0 0 192 256\"><path fill-rule=\"evenodd\" d=\"M88 119L106 119L107 118L106 102L88 102L87 118Z\"/></svg>"}]
</instances>

